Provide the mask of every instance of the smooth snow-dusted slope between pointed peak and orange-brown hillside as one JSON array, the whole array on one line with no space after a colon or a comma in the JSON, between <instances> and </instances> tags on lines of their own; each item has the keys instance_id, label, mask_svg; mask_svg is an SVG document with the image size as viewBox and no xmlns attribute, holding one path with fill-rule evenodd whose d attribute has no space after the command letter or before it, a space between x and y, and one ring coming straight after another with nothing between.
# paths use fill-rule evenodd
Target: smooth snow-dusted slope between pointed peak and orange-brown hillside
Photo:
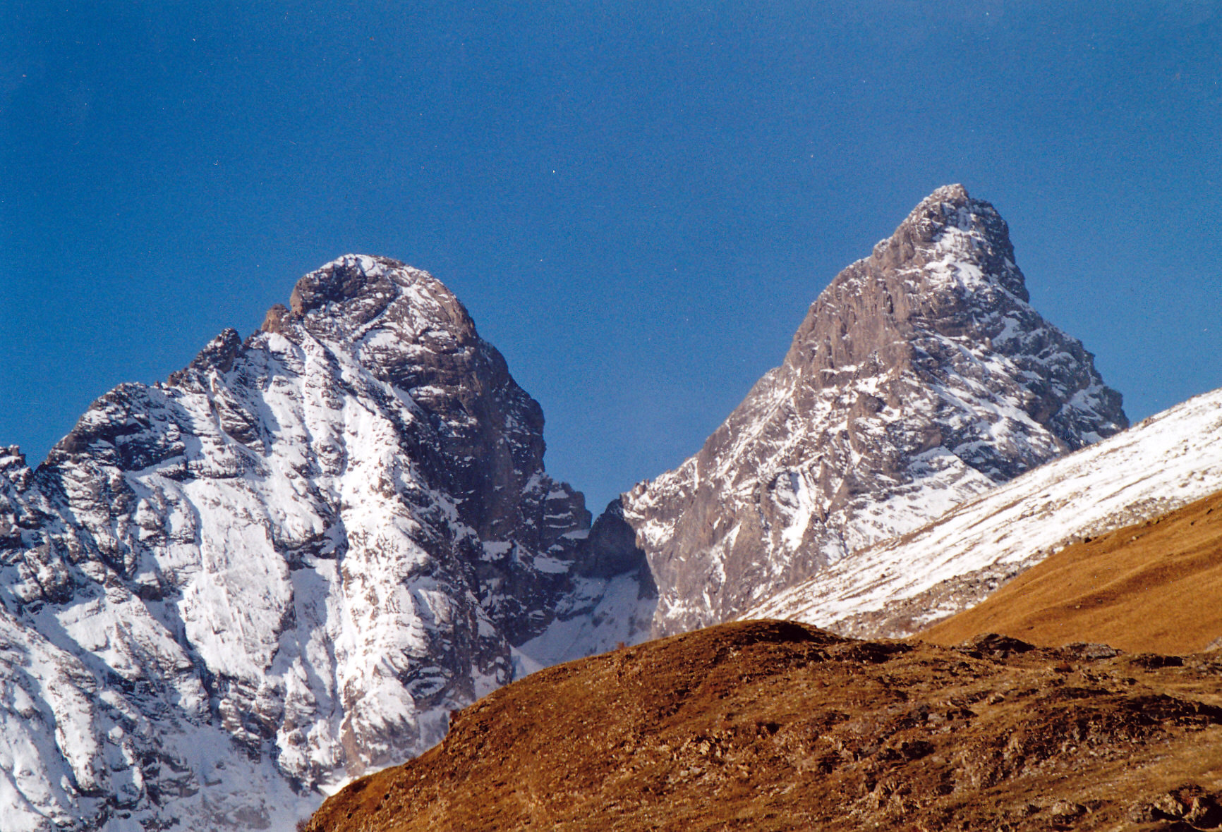
<instances>
[{"instance_id":1,"label":"smooth snow-dusted slope between pointed peak and orange-brown hillside","mask_svg":"<svg viewBox=\"0 0 1222 832\"><path fill-rule=\"evenodd\" d=\"M747 611L907 635L1070 542L1222 491L1222 390L1050 462Z\"/></svg>"}]
</instances>

